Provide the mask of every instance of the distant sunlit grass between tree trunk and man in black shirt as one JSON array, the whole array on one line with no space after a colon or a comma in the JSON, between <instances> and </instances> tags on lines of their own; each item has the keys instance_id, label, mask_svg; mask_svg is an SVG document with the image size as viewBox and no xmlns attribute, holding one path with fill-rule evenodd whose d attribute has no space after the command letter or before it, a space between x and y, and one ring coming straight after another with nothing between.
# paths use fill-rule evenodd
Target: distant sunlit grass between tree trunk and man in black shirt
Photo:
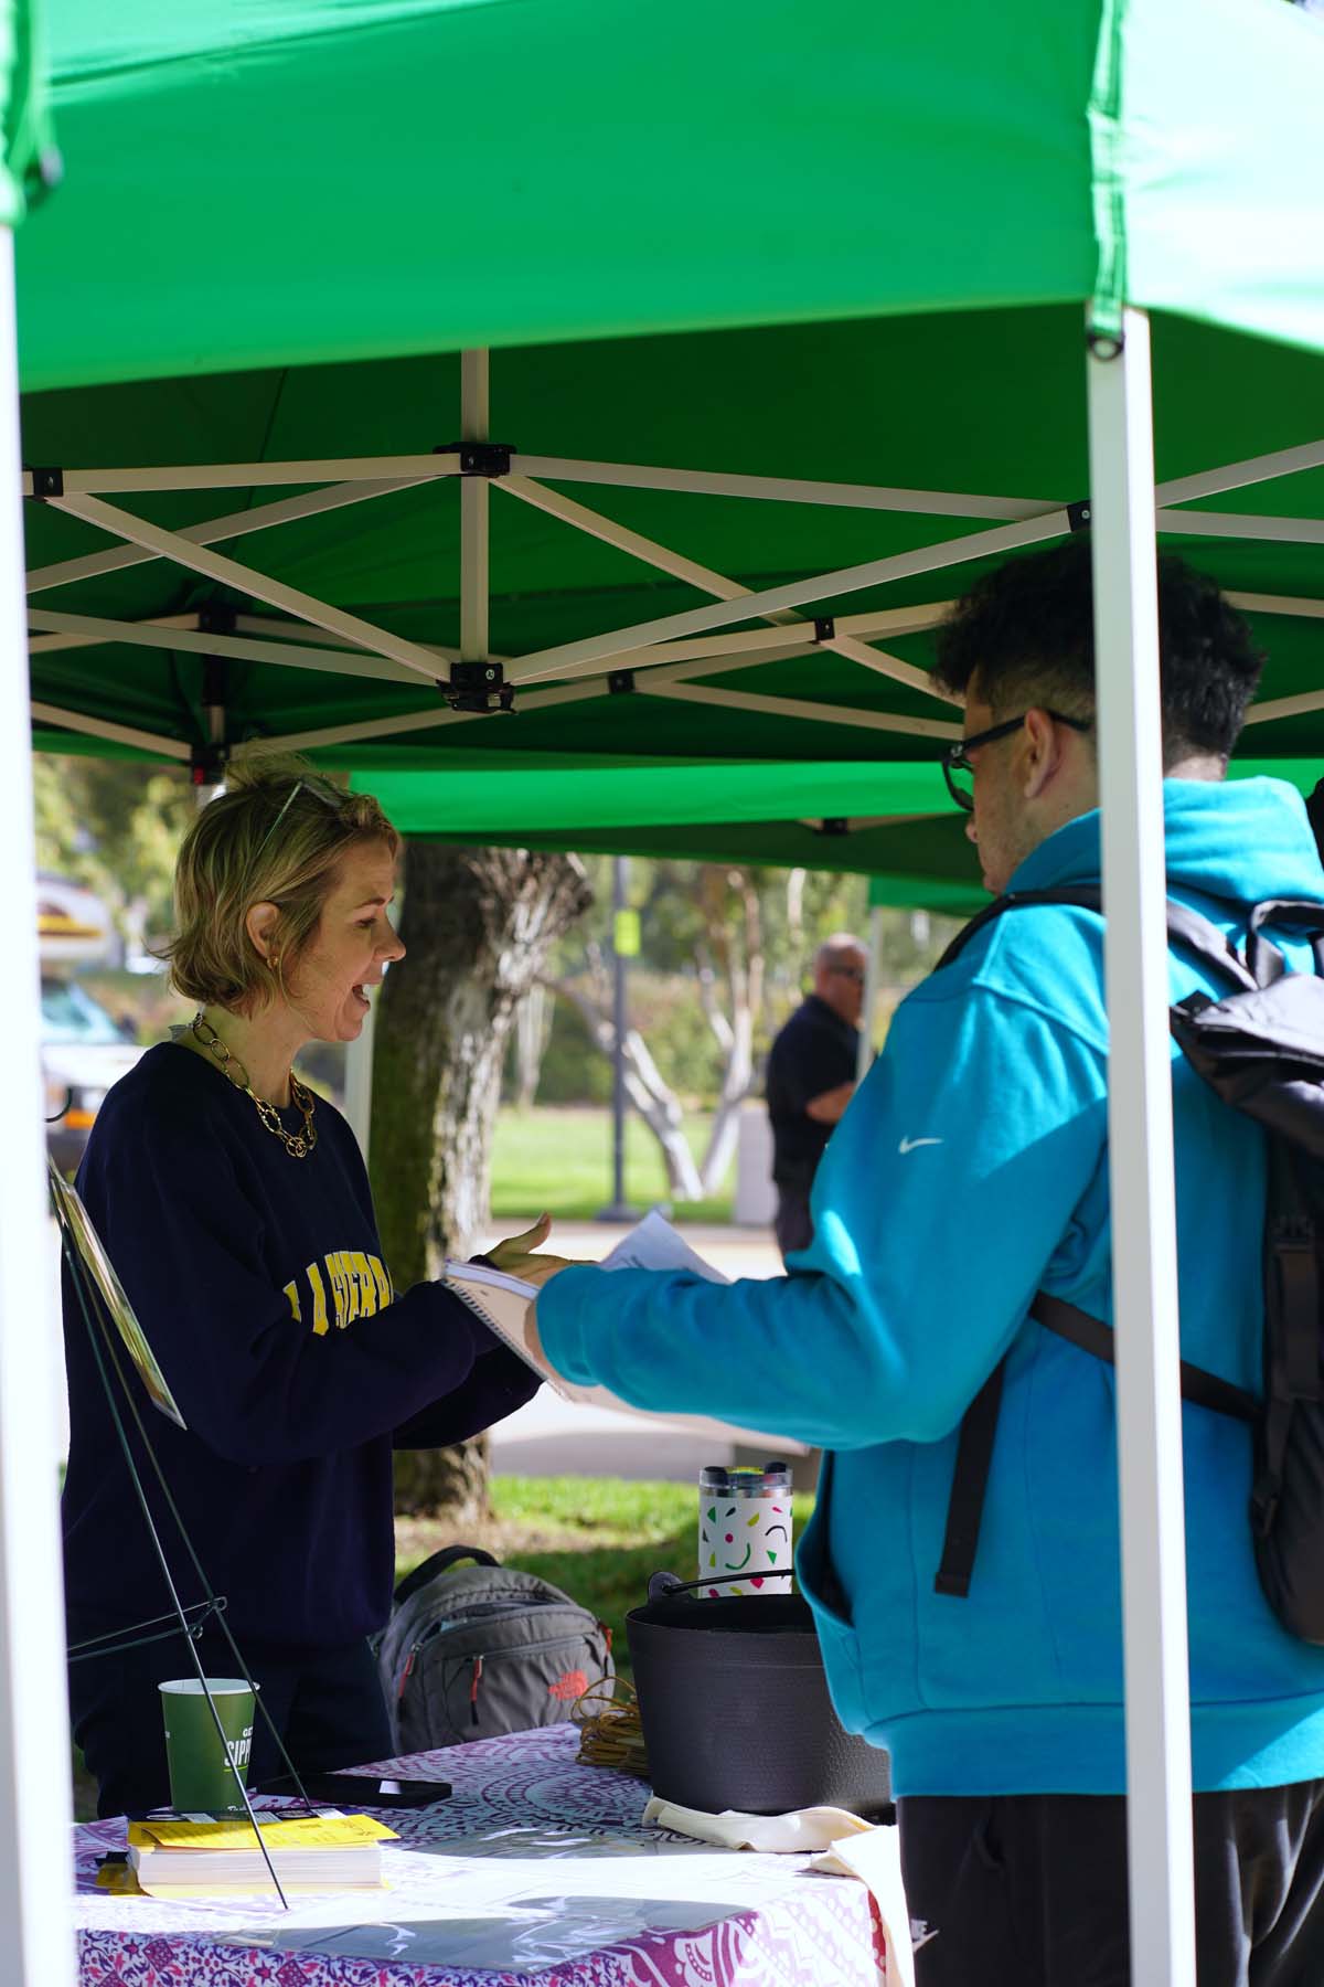
<instances>
[{"instance_id":1,"label":"distant sunlit grass between tree trunk and man in black shirt","mask_svg":"<svg viewBox=\"0 0 1324 1987\"><path fill-rule=\"evenodd\" d=\"M691 1150L703 1156L709 1119L685 1119ZM679 1222L728 1222L732 1176L711 1200L677 1200ZM625 1119L625 1196L639 1212L667 1200L667 1172L657 1139L633 1113ZM492 1218L558 1214L586 1222L611 1200L611 1113L592 1105L504 1109L492 1139Z\"/></svg>"}]
</instances>

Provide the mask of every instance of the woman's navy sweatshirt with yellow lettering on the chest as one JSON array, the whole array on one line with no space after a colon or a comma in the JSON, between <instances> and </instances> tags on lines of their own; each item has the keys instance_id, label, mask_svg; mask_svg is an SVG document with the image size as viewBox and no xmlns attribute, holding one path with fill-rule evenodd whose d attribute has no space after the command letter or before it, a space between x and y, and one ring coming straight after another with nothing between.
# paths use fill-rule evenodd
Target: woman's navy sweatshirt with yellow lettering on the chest
<instances>
[{"instance_id":1,"label":"woman's navy sweatshirt with yellow lettering on the chest","mask_svg":"<svg viewBox=\"0 0 1324 1987\"><path fill-rule=\"evenodd\" d=\"M288 1131L302 1115L282 1113ZM218 1069L161 1043L109 1093L77 1190L187 1429L131 1375L151 1447L242 1639L335 1647L391 1605L391 1449L463 1441L536 1377L439 1284L403 1298L381 1260L353 1133L316 1107L294 1158ZM67 1268L71 1629L169 1605ZM121 1357L125 1371L131 1371ZM200 1584L125 1417L185 1604Z\"/></svg>"}]
</instances>

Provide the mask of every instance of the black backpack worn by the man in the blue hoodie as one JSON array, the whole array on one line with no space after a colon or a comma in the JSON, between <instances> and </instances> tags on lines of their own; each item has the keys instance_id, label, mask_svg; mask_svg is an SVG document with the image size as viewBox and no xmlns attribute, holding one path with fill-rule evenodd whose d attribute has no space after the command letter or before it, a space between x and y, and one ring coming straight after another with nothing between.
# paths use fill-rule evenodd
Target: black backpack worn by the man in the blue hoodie
<instances>
[{"instance_id":1,"label":"black backpack worn by the man in the blue hoodie","mask_svg":"<svg viewBox=\"0 0 1324 1987\"><path fill-rule=\"evenodd\" d=\"M1098 888L1012 890L951 942L939 968L993 918L1026 904L1076 904L1102 912ZM1324 1645L1324 1401L1320 1351L1324 1303L1324 904L1268 900L1249 908L1247 946L1167 902L1167 938L1235 988L1225 999L1189 994L1171 1009L1171 1031L1191 1067L1217 1095L1264 1127L1264 1397L1181 1361L1183 1399L1255 1429L1251 1532L1268 1605L1302 1641ZM1286 926L1314 946L1314 974L1286 970L1264 926ZM1098 1317L1040 1292L1030 1305L1048 1331L1112 1361L1114 1335ZM993 1441L1002 1399L1002 1361L961 1423L939 1594L965 1600L975 1568Z\"/></svg>"}]
</instances>

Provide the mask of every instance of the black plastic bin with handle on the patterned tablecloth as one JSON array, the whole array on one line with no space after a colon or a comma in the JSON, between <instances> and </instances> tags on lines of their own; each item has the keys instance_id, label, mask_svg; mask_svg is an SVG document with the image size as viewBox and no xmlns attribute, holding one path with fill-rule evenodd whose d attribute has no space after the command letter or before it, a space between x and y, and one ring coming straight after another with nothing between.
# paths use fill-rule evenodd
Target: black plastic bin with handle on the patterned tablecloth
<instances>
[{"instance_id":1,"label":"black plastic bin with handle on the patterned tablecloth","mask_svg":"<svg viewBox=\"0 0 1324 1987\"><path fill-rule=\"evenodd\" d=\"M887 1755L842 1729L800 1594L695 1600L655 1576L649 1596L625 1633L655 1794L707 1814L889 1806Z\"/></svg>"}]
</instances>

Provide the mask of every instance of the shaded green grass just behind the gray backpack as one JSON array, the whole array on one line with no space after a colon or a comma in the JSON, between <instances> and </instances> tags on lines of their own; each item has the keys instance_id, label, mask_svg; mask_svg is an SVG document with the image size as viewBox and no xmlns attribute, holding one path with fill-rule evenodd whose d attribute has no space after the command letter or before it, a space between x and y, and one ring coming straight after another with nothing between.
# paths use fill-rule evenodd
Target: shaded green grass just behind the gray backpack
<instances>
[{"instance_id":1,"label":"shaded green grass just behind the gray backpack","mask_svg":"<svg viewBox=\"0 0 1324 1987\"><path fill-rule=\"evenodd\" d=\"M691 1484L623 1482L617 1476L494 1476L496 1526L484 1540L504 1566L562 1588L611 1629L615 1663L629 1677L625 1615L647 1600L649 1574L693 1580L699 1490ZM796 1494L796 1536L814 1510ZM439 1528L441 1530L441 1528ZM397 1578L443 1542L405 1534Z\"/></svg>"}]
</instances>

